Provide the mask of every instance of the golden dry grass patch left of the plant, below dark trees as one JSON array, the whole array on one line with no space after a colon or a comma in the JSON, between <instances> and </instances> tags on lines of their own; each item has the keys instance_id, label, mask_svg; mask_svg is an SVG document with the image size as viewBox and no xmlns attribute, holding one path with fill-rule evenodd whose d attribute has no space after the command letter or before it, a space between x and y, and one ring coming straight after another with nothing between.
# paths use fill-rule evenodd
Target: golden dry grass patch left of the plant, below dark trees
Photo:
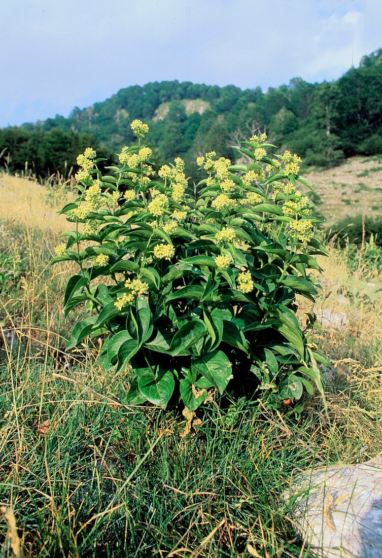
<instances>
[{"instance_id":1,"label":"golden dry grass patch left of the plant, below dark trees","mask_svg":"<svg viewBox=\"0 0 382 558\"><path fill-rule=\"evenodd\" d=\"M67 228L67 223L64 215L57 215L57 211L74 196L65 192L55 199L51 194L36 180L0 176L0 219L15 221L28 228L62 232Z\"/></svg>"}]
</instances>

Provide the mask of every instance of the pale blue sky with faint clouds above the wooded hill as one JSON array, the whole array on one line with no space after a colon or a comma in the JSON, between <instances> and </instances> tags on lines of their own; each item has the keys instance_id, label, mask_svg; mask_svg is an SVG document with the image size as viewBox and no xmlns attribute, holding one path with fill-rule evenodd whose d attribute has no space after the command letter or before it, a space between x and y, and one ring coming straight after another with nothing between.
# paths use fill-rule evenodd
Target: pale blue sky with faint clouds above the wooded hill
<instances>
[{"instance_id":1,"label":"pale blue sky with faint clouds above the wooded hill","mask_svg":"<svg viewBox=\"0 0 382 558\"><path fill-rule=\"evenodd\" d=\"M330 81L382 47L382 0L2 0L1 16L0 127L149 81Z\"/></svg>"}]
</instances>

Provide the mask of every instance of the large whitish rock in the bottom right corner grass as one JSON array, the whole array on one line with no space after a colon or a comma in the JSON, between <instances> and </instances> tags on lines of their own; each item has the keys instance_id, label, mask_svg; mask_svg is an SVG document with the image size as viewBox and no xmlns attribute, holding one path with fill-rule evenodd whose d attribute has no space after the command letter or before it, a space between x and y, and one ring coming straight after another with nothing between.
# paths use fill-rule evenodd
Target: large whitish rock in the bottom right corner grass
<instances>
[{"instance_id":1,"label":"large whitish rock in the bottom right corner grass","mask_svg":"<svg viewBox=\"0 0 382 558\"><path fill-rule=\"evenodd\" d=\"M311 552L320 558L382 557L382 457L311 469L284 499Z\"/></svg>"}]
</instances>

